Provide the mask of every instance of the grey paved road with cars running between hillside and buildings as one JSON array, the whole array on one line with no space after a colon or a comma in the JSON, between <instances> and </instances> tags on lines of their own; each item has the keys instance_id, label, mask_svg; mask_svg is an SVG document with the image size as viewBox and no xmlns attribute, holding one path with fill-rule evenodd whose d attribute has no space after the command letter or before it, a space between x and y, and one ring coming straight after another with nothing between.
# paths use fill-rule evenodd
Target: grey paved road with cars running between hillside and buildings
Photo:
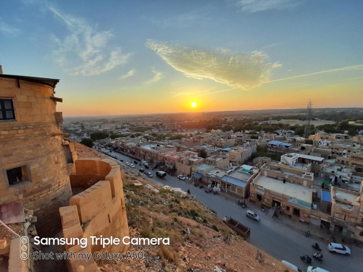
<instances>
[{"instance_id":1,"label":"grey paved road with cars running between hillside and buildings","mask_svg":"<svg viewBox=\"0 0 363 272\"><path fill-rule=\"evenodd\" d=\"M102 149L102 151L106 150ZM124 162L131 160L129 157L116 152L110 154L116 156L118 159L122 159ZM130 167L126 166L126 168L131 170ZM143 166L139 166L138 164L135 165L135 168L139 169L143 168ZM154 174L155 178L155 171L152 171L151 168L148 170ZM302 271L306 271L308 265L300 259L300 256L305 254L309 254L310 256L313 255L315 251L311 245L318 242L322 247L324 260L321 262L313 259L312 266L317 266L330 272L363 272L363 250L360 248L350 246L352 252L351 256L340 254L333 255L327 250L327 244L315 240L314 238L305 237L303 232L285 226L275 217L268 217L267 211L262 212L260 207L253 203L249 203L248 209L253 210L260 215L260 222L255 222L252 219L247 218L245 215L247 209L238 206L234 201L234 197L231 195L226 199L224 192L221 192L219 195L207 194L204 192L204 189L194 187L190 181L180 181L178 178L170 175L167 175L165 179L156 177L155 180L162 182L165 185L179 187L184 191L189 189L191 193L196 196L198 201L215 210L219 217L222 218L225 215L228 215L248 226L251 228L249 243L267 252L277 260L289 261L299 267Z\"/></svg>"}]
</instances>

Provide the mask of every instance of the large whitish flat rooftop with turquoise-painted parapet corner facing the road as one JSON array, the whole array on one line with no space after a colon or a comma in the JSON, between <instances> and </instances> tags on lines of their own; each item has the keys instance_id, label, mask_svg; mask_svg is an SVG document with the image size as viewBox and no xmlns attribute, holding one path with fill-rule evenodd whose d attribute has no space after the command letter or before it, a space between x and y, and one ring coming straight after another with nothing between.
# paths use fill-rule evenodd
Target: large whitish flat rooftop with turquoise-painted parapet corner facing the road
<instances>
[{"instance_id":1,"label":"large whitish flat rooftop with turquoise-painted parapet corner facing the road","mask_svg":"<svg viewBox=\"0 0 363 272\"><path fill-rule=\"evenodd\" d=\"M312 203L312 189L303 185L290 182L284 183L261 174L254 180L254 184L280 194L288 195L289 197L295 197L307 203Z\"/></svg>"}]
</instances>

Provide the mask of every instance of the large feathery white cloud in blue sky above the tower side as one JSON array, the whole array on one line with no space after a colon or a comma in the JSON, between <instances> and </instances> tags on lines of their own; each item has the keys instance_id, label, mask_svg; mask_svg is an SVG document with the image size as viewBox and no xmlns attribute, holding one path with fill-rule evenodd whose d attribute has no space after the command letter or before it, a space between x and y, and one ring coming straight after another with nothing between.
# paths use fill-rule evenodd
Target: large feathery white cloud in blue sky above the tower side
<instances>
[{"instance_id":1,"label":"large feathery white cloud in blue sky above the tower side","mask_svg":"<svg viewBox=\"0 0 363 272\"><path fill-rule=\"evenodd\" d=\"M132 53L122 53L121 48L110 46L114 35L110 31L98 31L83 18L64 14L47 6L58 20L65 24L68 34L59 38L51 35L57 49L54 61L74 75L96 75L127 63Z\"/></svg>"}]
</instances>

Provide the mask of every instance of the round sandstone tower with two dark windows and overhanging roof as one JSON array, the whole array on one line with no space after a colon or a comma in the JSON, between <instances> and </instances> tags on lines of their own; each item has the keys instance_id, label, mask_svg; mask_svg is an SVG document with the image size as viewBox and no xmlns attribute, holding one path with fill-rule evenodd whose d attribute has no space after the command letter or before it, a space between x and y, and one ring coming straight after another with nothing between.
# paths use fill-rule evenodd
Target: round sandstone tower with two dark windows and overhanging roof
<instances>
[{"instance_id":1,"label":"round sandstone tower with two dark windows and overhanging roof","mask_svg":"<svg viewBox=\"0 0 363 272\"><path fill-rule=\"evenodd\" d=\"M34 210L42 236L59 230L58 209L72 197L73 157L56 111L58 82L0 69L0 205L22 202Z\"/></svg>"}]
</instances>

